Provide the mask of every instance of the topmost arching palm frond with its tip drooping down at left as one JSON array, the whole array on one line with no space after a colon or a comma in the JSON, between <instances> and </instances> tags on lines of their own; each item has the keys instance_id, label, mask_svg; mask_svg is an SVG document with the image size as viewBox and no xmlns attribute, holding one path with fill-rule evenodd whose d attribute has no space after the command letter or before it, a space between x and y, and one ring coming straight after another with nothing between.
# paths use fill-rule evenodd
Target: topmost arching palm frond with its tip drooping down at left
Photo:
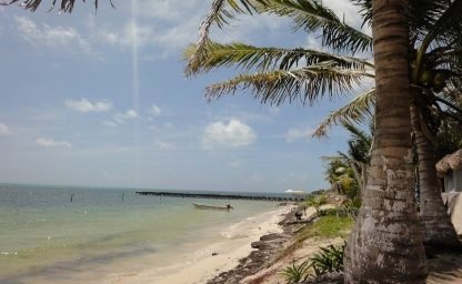
<instances>
[{"instance_id":1,"label":"topmost arching palm frond with its tip drooping down at left","mask_svg":"<svg viewBox=\"0 0 462 284\"><path fill-rule=\"evenodd\" d=\"M228 3L228 6L225 6ZM189 58L185 74L191 75L200 69L200 62L207 58L207 45L212 23L220 28L229 23L235 13L275 13L291 17L295 29L322 31L322 41L334 50L356 51L371 50L372 39L363 32L342 22L335 13L314 0L214 0L212 8L199 29L195 52Z\"/></svg>"}]
</instances>

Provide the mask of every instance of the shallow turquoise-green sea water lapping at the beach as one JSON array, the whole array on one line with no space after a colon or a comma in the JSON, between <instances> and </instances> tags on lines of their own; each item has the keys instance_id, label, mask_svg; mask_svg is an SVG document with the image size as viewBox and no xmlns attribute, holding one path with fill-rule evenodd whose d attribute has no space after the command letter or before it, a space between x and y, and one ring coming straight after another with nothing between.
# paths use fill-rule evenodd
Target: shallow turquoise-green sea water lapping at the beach
<instances>
[{"instance_id":1,"label":"shallow turquoise-green sea water lapping at the beach","mask_svg":"<svg viewBox=\"0 0 462 284\"><path fill-rule=\"evenodd\" d=\"M234 211L141 196L135 190L0 184L0 283L99 283L109 274L178 263L222 231L274 203L231 201ZM72 199L72 202L71 202ZM122 202L123 199L123 202Z\"/></svg>"}]
</instances>

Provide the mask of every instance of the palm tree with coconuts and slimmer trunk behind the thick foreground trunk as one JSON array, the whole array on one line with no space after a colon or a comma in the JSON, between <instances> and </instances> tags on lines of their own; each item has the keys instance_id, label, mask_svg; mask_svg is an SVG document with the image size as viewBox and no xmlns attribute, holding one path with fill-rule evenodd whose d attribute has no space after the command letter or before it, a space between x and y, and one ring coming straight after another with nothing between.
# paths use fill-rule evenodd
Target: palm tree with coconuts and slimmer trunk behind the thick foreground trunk
<instances>
[{"instance_id":1,"label":"palm tree with coconuts and slimmer trunk behind the thick foreground trunk","mask_svg":"<svg viewBox=\"0 0 462 284\"><path fill-rule=\"evenodd\" d=\"M370 3L370 1L363 1ZM439 103L443 103L446 108L459 112L461 116L462 111L451 102L451 97L454 97L454 89L460 88L460 80L462 74L462 67L458 54L461 53L461 48L458 41L460 34L456 32L450 33L451 40L445 40L443 47L436 47L426 52L426 48L435 40L440 40L438 30L448 24L454 24L452 19L455 17L454 12L460 11L462 1L454 1L452 3L439 4L434 11L435 20L431 27L421 29L414 32L414 38L421 38L421 45L415 50L413 55L416 58L413 61L412 70L412 94L413 103L411 106L411 121L414 133L418 153L418 178L420 187L420 221L423 226L423 241L425 245L443 246L443 247L461 247L454 227L446 214L444 204L440 196L440 186L436 179L434 155L434 143L432 142L432 133L428 128L425 120L429 120L432 109L436 110L441 116L450 116L458 119L458 115L451 114L450 111L443 111ZM434 4L434 3L433 3ZM365 4L364 10L369 13L370 6ZM368 17L366 17L368 18ZM459 23L460 24L460 23ZM458 31L459 32L459 31ZM455 43L455 44L454 44ZM420 63L419 62L420 55ZM450 67L450 70L444 69ZM424 69L416 74L416 70ZM436 75L438 74L438 75ZM443 90L443 87L448 85ZM440 93L443 90L442 93ZM439 97L436 97L439 94ZM460 92L458 93L460 95ZM373 106L374 89L366 93L356 97L350 104L331 113L328 119L320 124L315 134L325 135L327 129L330 124L338 121L362 120L361 112L370 113ZM459 119L461 120L461 119ZM436 128L438 129L438 128Z\"/></svg>"}]
</instances>

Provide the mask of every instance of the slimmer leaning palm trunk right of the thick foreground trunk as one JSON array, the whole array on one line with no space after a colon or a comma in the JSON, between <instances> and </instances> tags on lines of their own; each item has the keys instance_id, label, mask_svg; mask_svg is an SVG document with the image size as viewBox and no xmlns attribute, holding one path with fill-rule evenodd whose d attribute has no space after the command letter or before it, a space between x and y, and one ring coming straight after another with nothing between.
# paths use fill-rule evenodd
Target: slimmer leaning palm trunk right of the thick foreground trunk
<instances>
[{"instance_id":1,"label":"slimmer leaning palm trunk right of the thick foreground trunk","mask_svg":"<svg viewBox=\"0 0 462 284\"><path fill-rule=\"evenodd\" d=\"M433 145L422 131L419 109L414 103L411 104L411 121L419 160L419 219L423 230L423 243L436 247L461 248L458 234L441 199Z\"/></svg>"}]
</instances>

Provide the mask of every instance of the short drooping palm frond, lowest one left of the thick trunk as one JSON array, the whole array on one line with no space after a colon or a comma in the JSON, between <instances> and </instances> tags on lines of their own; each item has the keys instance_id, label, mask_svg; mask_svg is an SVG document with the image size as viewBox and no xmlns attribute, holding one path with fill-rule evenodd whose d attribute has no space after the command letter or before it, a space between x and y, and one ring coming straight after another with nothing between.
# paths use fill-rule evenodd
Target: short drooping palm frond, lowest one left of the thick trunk
<instances>
[{"instance_id":1,"label":"short drooping palm frond, lowest one left of the thick trunk","mask_svg":"<svg viewBox=\"0 0 462 284\"><path fill-rule=\"evenodd\" d=\"M372 116L375 106L375 89L371 89L364 93L356 95L346 105L331 112L328 118L322 121L314 130L313 136L327 138L329 129L342 122L361 123Z\"/></svg>"}]
</instances>

